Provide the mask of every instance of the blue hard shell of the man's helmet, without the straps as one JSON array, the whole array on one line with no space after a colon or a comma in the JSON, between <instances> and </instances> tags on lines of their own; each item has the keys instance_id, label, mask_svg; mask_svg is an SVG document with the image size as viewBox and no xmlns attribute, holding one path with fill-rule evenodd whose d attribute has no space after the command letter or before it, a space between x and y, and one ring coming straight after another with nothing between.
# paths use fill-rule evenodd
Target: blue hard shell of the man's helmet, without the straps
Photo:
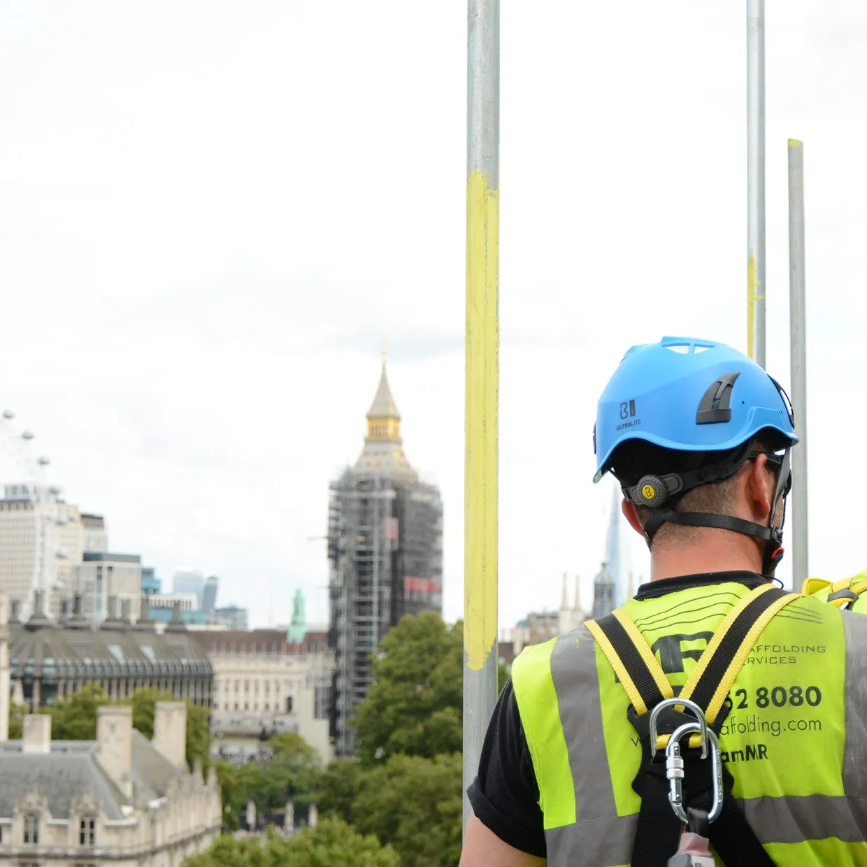
<instances>
[{"instance_id":1,"label":"blue hard shell of the man's helmet, without the straps","mask_svg":"<svg viewBox=\"0 0 867 867\"><path fill-rule=\"evenodd\" d=\"M766 429L798 442L786 393L758 364L724 343L663 337L629 349L599 398L593 480L626 440L726 452Z\"/></svg>"}]
</instances>

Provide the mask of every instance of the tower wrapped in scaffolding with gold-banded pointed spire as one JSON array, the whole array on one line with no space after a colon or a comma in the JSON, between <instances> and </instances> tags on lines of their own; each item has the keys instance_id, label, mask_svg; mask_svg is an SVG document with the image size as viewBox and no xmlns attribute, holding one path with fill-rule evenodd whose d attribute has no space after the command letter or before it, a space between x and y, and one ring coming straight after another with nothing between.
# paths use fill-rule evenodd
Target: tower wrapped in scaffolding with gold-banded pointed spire
<instances>
[{"instance_id":1,"label":"tower wrapped in scaffolding with gold-banded pointed spire","mask_svg":"<svg viewBox=\"0 0 867 867\"><path fill-rule=\"evenodd\" d=\"M442 611L440 492L407 460L384 353L362 452L330 486L328 538L331 737L338 756L351 756L370 655L402 616Z\"/></svg>"}]
</instances>

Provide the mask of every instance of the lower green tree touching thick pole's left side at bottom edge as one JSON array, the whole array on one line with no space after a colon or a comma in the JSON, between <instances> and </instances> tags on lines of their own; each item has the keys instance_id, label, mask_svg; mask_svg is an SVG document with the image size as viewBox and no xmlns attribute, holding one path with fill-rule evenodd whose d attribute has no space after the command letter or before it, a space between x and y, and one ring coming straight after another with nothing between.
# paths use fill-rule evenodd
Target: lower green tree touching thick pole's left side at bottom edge
<instances>
[{"instance_id":1,"label":"lower green tree touching thick pole's left side at bottom edge","mask_svg":"<svg viewBox=\"0 0 867 867\"><path fill-rule=\"evenodd\" d=\"M401 864L457 867L463 805L461 756L396 755L362 772L355 826L392 844Z\"/></svg>"}]
</instances>

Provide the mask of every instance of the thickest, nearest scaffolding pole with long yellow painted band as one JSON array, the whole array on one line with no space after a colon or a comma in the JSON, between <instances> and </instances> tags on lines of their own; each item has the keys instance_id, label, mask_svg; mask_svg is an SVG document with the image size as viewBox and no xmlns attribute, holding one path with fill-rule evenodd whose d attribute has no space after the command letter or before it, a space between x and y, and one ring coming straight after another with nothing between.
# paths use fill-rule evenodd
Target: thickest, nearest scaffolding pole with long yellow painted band
<instances>
[{"instance_id":1,"label":"thickest, nearest scaffolding pole with long yellow painted band","mask_svg":"<svg viewBox=\"0 0 867 867\"><path fill-rule=\"evenodd\" d=\"M499 0L468 0L466 45L466 451L464 829L497 701L499 427Z\"/></svg>"}]
</instances>

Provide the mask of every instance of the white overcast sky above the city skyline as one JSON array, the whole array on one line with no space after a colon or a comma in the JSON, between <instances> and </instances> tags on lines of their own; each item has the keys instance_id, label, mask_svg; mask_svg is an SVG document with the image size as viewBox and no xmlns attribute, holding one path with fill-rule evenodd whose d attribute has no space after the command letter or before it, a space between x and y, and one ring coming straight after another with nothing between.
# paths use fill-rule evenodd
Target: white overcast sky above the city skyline
<instances>
[{"instance_id":1,"label":"white overcast sky above the city skyline","mask_svg":"<svg viewBox=\"0 0 867 867\"><path fill-rule=\"evenodd\" d=\"M766 5L768 368L788 383L797 137L811 565L843 577L867 565L867 8ZM746 4L504 2L501 31L505 625L556 608L564 571L590 604L590 433L623 351L746 348ZM308 539L388 338L460 616L466 3L5 0L0 81L0 402L67 498L165 583L217 574L257 625L302 587L324 621Z\"/></svg>"}]
</instances>

